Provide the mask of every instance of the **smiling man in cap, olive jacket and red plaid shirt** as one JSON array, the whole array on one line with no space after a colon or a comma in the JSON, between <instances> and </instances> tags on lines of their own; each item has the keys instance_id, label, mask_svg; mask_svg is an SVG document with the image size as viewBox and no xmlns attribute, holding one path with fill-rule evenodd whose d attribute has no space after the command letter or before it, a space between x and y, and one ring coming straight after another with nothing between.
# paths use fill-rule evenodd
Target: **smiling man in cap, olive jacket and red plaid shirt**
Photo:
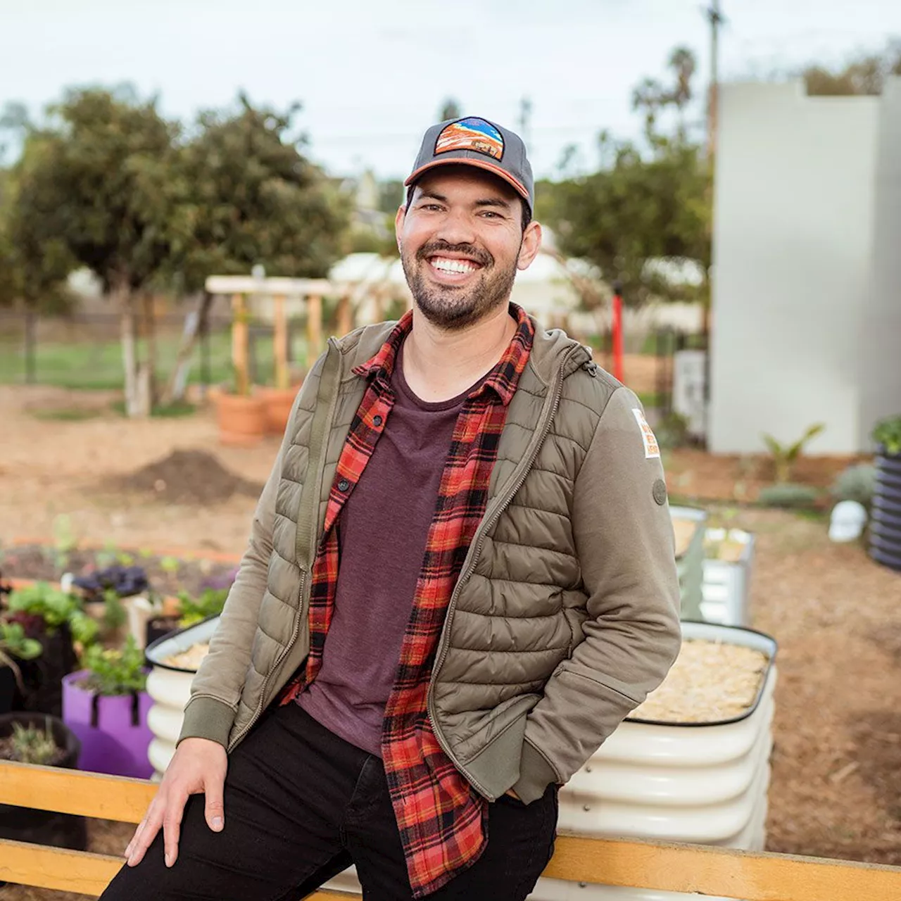
<instances>
[{"instance_id":1,"label":"smiling man in cap, olive jacket and red plaid shirt","mask_svg":"<svg viewBox=\"0 0 901 901\"><path fill-rule=\"evenodd\" d=\"M677 654L641 405L509 301L542 237L523 142L434 125L407 186L414 309L306 379L105 898L297 898L351 862L374 901L524 898L558 787Z\"/></svg>"}]
</instances>

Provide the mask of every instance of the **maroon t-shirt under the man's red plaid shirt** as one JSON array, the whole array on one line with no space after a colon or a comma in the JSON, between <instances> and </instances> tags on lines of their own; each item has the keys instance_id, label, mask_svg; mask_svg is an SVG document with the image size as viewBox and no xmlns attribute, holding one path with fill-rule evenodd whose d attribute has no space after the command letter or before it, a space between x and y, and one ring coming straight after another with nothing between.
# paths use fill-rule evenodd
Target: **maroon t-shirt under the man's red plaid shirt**
<instances>
[{"instance_id":1,"label":"maroon t-shirt under the man's red plaid shirt","mask_svg":"<svg viewBox=\"0 0 901 901\"><path fill-rule=\"evenodd\" d=\"M460 409L483 380L428 404L406 384L403 355L401 347L395 404L338 519L341 557L322 667L297 698L326 729L379 757L441 472Z\"/></svg>"}]
</instances>

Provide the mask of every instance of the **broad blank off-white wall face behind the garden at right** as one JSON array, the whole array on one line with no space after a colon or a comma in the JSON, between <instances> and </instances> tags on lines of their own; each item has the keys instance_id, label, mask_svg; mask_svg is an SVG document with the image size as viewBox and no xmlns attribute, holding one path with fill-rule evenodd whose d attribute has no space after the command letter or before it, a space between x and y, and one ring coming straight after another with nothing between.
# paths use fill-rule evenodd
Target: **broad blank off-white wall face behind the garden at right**
<instances>
[{"instance_id":1,"label":"broad blank off-white wall face behind the garden at right","mask_svg":"<svg viewBox=\"0 0 901 901\"><path fill-rule=\"evenodd\" d=\"M872 290L879 98L807 97L800 83L721 93L714 197L714 452L826 430L813 453L860 447L861 307ZM901 147L901 145L896 145Z\"/></svg>"}]
</instances>

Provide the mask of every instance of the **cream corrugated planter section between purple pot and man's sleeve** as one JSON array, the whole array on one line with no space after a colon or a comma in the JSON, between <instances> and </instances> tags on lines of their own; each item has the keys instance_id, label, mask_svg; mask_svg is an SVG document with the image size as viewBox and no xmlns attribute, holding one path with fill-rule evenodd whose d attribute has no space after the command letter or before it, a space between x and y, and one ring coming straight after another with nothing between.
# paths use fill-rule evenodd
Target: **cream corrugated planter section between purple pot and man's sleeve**
<instances>
[{"instance_id":1,"label":"cream corrugated planter section between purple pot and man's sleeve","mask_svg":"<svg viewBox=\"0 0 901 901\"><path fill-rule=\"evenodd\" d=\"M172 654L187 651L199 642L208 642L218 624L219 617L213 616L203 623L164 635L152 642L145 651L147 662L152 667L147 677L146 690L153 699L153 706L147 714L147 724L153 733L153 739L147 750L147 758L154 769L154 778L162 778L175 753L185 705L191 696L191 682L197 671L174 667L162 661Z\"/></svg>"}]
</instances>

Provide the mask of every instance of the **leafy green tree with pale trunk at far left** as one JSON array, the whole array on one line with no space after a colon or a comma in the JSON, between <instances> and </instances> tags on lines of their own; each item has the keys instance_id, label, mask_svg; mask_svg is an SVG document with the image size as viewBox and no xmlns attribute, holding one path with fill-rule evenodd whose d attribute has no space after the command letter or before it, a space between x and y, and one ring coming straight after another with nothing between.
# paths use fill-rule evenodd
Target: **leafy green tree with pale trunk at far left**
<instances>
[{"instance_id":1,"label":"leafy green tree with pale trunk at far left","mask_svg":"<svg viewBox=\"0 0 901 901\"><path fill-rule=\"evenodd\" d=\"M181 186L174 166L178 126L155 99L131 90L68 91L32 128L14 168L8 241L28 296L78 266L101 279L121 314L125 405L149 414L152 355L138 357L138 301L145 298L173 246L187 238L177 215Z\"/></svg>"}]
</instances>

